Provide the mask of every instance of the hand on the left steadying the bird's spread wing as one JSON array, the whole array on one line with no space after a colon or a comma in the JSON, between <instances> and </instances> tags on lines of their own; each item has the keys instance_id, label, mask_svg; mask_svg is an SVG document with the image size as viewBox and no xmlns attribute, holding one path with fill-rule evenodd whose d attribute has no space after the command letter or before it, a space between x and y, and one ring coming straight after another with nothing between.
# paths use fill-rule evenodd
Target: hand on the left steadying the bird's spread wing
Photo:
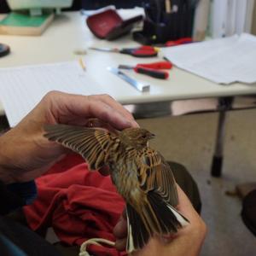
<instances>
[{"instance_id":1,"label":"hand on the left steadying the bird's spread wing","mask_svg":"<svg viewBox=\"0 0 256 256\"><path fill-rule=\"evenodd\" d=\"M94 122L91 123L90 119ZM19 183L39 177L67 149L49 142L45 124L137 127L131 113L108 95L78 96L49 92L13 129L0 137L0 179Z\"/></svg>"}]
</instances>

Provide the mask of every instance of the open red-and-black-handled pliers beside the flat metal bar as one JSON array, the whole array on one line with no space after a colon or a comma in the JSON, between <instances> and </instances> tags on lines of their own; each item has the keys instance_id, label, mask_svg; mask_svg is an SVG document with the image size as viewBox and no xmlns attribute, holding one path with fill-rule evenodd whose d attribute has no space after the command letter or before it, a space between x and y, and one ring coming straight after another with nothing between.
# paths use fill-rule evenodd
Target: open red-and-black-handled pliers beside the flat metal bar
<instances>
[{"instance_id":1,"label":"open red-and-black-handled pliers beside the flat metal bar","mask_svg":"<svg viewBox=\"0 0 256 256\"><path fill-rule=\"evenodd\" d=\"M147 64L137 64L135 67L128 65L119 65L120 69L133 69L136 73L143 73L155 79L168 79L169 73L160 71L160 69L171 69L172 63L169 61L160 61Z\"/></svg>"}]
</instances>

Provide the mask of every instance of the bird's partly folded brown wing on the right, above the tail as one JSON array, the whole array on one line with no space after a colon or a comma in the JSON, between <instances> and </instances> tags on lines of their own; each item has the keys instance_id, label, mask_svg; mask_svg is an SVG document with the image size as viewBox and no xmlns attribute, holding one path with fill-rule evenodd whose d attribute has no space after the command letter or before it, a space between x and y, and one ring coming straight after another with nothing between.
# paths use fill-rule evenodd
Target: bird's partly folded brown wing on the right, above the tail
<instances>
[{"instance_id":1,"label":"bird's partly folded brown wing on the right, above the tail","mask_svg":"<svg viewBox=\"0 0 256 256\"><path fill-rule=\"evenodd\" d=\"M141 188L147 193L154 190L164 201L176 207L178 203L176 183L171 167L164 157L152 148L145 148L140 159L138 178Z\"/></svg>"}]
</instances>

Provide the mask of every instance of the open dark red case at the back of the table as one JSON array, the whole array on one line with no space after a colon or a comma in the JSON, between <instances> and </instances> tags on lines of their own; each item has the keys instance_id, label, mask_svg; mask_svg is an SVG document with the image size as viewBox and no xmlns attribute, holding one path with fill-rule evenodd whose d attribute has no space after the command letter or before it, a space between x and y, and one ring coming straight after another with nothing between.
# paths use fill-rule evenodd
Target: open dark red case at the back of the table
<instances>
[{"instance_id":1,"label":"open dark red case at the back of the table","mask_svg":"<svg viewBox=\"0 0 256 256\"><path fill-rule=\"evenodd\" d=\"M143 15L123 20L114 9L108 9L96 15L90 15L86 23L97 38L113 40L130 32L131 28L140 20L143 20Z\"/></svg>"}]
</instances>

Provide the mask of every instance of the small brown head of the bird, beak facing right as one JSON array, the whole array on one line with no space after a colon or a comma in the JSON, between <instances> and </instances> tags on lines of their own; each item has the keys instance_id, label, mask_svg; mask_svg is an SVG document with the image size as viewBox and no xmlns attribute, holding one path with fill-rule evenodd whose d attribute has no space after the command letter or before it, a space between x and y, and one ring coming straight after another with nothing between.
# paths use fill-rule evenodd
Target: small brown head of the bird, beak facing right
<instances>
[{"instance_id":1,"label":"small brown head of the bird, beak facing right","mask_svg":"<svg viewBox=\"0 0 256 256\"><path fill-rule=\"evenodd\" d=\"M144 148L148 141L154 138L154 134L143 128L127 128L120 133L122 143L133 148Z\"/></svg>"}]
</instances>

